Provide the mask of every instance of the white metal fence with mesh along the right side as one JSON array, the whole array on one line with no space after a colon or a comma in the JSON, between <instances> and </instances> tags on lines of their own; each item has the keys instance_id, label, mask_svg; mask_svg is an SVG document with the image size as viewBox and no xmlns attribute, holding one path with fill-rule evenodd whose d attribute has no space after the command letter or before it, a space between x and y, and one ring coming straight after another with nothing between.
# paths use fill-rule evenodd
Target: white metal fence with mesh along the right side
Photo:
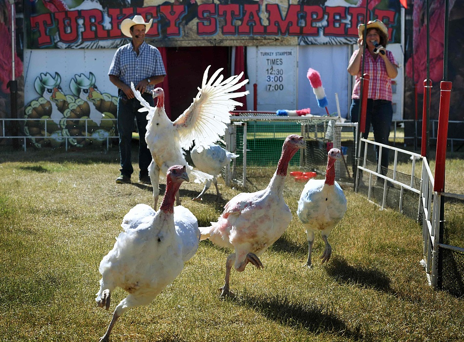
<instances>
[{"instance_id":1,"label":"white metal fence with mesh along the right side","mask_svg":"<svg viewBox=\"0 0 464 342\"><path fill-rule=\"evenodd\" d=\"M360 141L358 169L362 171L362 180L358 173L356 191L361 190L369 201L382 209L396 209L421 223L421 264L425 268L428 283L436 289L446 289L457 296L463 296L464 248L443 243L446 220L443 219L442 201L448 198L464 204L464 195L435 192L434 177L425 157L366 139ZM371 149L371 158L375 158L372 150L376 146L379 146L379 160L386 149L394 153L393 170L382 170L380 162L369 161L368 151ZM408 171L404 168L398 171L399 160L410 161ZM416 168L419 167L422 167L420 178L416 176ZM411 193L414 195L411 196Z\"/></svg>"}]
</instances>

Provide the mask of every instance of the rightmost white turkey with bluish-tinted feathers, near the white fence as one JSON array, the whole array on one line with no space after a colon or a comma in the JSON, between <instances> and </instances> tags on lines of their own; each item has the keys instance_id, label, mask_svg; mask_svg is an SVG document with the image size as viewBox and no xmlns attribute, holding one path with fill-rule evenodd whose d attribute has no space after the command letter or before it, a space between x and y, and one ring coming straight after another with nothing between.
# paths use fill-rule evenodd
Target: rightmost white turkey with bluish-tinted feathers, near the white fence
<instances>
[{"instance_id":1,"label":"rightmost white turkey with bluish-tinted feathers, near the white fence","mask_svg":"<svg viewBox=\"0 0 464 342\"><path fill-rule=\"evenodd\" d=\"M332 247L328 242L328 236L332 229L343 218L346 212L346 198L343 190L335 181L335 162L341 159L341 151L331 149L328 153L327 171L325 179L310 179L298 201L296 214L306 228L308 236L308 260L306 266L311 268L311 253L315 232L320 231L325 242L325 250L322 263L332 256Z\"/></svg>"}]
</instances>

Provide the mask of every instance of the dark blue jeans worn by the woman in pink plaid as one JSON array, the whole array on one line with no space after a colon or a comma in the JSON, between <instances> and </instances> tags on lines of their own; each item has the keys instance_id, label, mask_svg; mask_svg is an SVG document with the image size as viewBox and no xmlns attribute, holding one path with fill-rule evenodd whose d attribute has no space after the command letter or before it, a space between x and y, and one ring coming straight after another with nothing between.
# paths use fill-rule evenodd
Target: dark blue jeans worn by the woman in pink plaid
<instances>
[{"instance_id":1,"label":"dark blue jeans worn by the woman in pink plaid","mask_svg":"<svg viewBox=\"0 0 464 342\"><path fill-rule=\"evenodd\" d=\"M352 99L350 113L351 122L358 122L359 99ZM388 145L392 119L393 107L391 101L367 99L366 129L362 134L362 138L367 139L372 124L372 128L374 130L374 141L380 144ZM378 146L376 146L376 157L377 162L379 162ZM385 168L384 171L388 169L388 149L382 149L382 159L380 161L380 166Z\"/></svg>"}]
</instances>

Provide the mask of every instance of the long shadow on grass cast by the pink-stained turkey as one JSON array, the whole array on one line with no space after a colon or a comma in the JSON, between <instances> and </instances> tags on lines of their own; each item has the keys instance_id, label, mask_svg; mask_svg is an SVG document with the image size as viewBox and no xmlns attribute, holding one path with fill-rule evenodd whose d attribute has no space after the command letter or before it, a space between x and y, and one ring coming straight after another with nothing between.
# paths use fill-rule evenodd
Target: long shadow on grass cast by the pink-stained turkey
<instances>
[{"instance_id":1,"label":"long shadow on grass cast by the pink-stained turkey","mask_svg":"<svg viewBox=\"0 0 464 342\"><path fill-rule=\"evenodd\" d=\"M255 296L244 294L240 299L232 299L241 305L261 312L263 316L281 324L302 327L313 333L329 332L352 340L365 339L360 326L355 330L337 318L330 307L321 307L311 300L292 302L285 296Z\"/></svg>"}]
</instances>

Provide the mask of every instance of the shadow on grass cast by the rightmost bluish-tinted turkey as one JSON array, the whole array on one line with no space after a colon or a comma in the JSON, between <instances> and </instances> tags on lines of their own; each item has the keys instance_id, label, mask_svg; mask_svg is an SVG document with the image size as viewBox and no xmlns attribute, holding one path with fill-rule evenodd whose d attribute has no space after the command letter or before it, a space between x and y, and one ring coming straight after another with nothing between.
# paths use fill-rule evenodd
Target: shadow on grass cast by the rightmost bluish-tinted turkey
<instances>
[{"instance_id":1,"label":"shadow on grass cast by the rightmost bluish-tinted turkey","mask_svg":"<svg viewBox=\"0 0 464 342\"><path fill-rule=\"evenodd\" d=\"M390 278L375 268L352 266L344 258L335 256L326 269L327 274L338 283L358 284L380 291L392 292Z\"/></svg>"}]
</instances>

